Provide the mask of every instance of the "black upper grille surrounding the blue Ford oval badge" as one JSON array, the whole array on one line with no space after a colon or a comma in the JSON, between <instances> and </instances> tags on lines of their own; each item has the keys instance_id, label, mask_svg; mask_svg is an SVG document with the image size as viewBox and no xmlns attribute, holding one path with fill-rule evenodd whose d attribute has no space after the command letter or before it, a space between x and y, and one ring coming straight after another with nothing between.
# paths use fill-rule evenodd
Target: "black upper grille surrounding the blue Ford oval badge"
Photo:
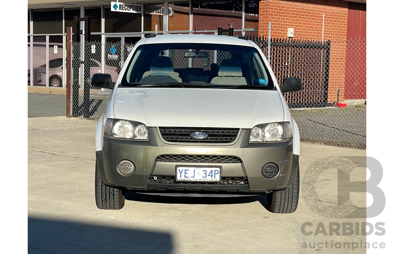
<instances>
[{"instance_id":1,"label":"black upper grille surrounding the blue Ford oval badge","mask_svg":"<svg viewBox=\"0 0 394 254\"><path fill-rule=\"evenodd\" d=\"M192 143L231 143L240 129L237 128L198 128L198 127L159 127L165 141ZM192 132L206 132L205 139L193 139Z\"/></svg>"}]
</instances>

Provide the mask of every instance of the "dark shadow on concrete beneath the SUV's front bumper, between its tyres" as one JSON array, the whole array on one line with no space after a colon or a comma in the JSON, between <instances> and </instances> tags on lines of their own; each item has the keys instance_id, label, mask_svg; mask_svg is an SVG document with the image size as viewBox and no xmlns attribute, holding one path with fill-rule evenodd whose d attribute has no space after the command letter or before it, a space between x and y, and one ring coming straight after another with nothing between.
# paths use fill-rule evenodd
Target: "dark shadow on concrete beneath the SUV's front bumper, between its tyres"
<instances>
[{"instance_id":1,"label":"dark shadow on concrete beneath the SUV's front bumper, between its tyres","mask_svg":"<svg viewBox=\"0 0 394 254\"><path fill-rule=\"evenodd\" d=\"M255 201L260 202L264 208L267 206L266 195L255 195L245 197L172 197L150 195L144 193L128 192L125 194L127 200L134 200L138 202L149 203L167 203L167 204L206 204L206 205L221 205L221 204L245 204Z\"/></svg>"}]
</instances>

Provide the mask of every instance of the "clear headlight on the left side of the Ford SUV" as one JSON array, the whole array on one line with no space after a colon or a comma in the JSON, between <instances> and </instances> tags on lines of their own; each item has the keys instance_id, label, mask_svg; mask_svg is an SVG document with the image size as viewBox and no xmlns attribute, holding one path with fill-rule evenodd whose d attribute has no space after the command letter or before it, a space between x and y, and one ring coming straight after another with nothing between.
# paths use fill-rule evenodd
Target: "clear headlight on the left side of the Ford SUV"
<instances>
[{"instance_id":1,"label":"clear headlight on the left side of the Ford SUV","mask_svg":"<svg viewBox=\"0 0 394 254\"><path fill-rule=\"evenodd\" d=\"M119 119L107 119L104 124L104 136L118 139L149 140L145 124Z\"/></svg>"}]
</instances>

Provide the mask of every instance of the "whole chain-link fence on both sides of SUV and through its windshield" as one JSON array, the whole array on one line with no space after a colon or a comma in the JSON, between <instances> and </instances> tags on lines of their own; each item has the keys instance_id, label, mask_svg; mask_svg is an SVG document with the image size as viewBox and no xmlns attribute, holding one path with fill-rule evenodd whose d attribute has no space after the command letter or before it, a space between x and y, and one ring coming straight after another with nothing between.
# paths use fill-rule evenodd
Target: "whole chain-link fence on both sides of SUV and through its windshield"
<instances>
[{"instance_id":1,"label":"whole chain-link fence on both sides of SUV and through its windshield","mask_svg":"<svg viewBox=\"0 0 394 254\"><path fill-rule=\"evenodd\" d=\"M299 126L301 141L366 148L366 41L247 39L267 56L279 85L286 77L302 80L303 91L284 95ZM102 72L115 81L132 47L119 42L72 43L73 116L100 117L110 91L94 89L90 79ZM230 52L219 50L209 57L194 59L184 57L180 50L166 51L162 54L170 57L174 70L210 70L223 59L232 58Z\"/></svg>"}]
</instances>

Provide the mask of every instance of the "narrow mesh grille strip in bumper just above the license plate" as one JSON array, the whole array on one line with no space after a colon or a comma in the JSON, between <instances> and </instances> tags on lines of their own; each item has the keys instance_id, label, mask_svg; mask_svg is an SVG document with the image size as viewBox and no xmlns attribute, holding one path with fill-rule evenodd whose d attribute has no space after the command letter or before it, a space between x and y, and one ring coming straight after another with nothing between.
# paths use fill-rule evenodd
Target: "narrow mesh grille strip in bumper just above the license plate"
<instances>
[{"instance_id":1,"label":"narrow mesh grille strip in bumper just above the license plate","mask_svg":"<svg viewBox=\"0 0 394 254\"><path fill-rule=\"evenodd\" d=\"M161 155L158 158L156 158L156 161L242 163L241 159L235 156L208 156L208 155Z\"/></svg>"}]
</instances>

